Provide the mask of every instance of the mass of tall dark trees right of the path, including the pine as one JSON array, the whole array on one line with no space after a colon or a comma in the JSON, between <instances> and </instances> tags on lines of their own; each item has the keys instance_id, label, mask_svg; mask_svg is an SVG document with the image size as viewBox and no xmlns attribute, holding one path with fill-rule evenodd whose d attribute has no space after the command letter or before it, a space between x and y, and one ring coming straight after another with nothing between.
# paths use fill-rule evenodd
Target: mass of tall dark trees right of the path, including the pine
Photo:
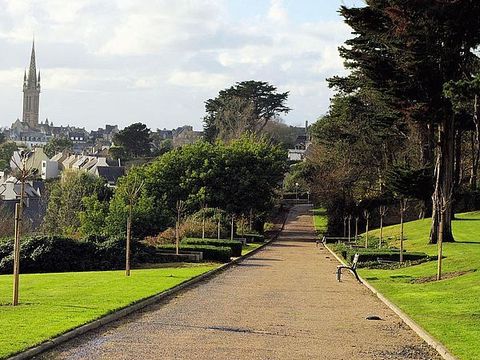
<instances>
[{"instance_id":1,"label":"mass of tall dark trees right of the path, including the pine","mask_svg":"<svg viewBox=\"0 0 480 360\"><path fill-rule=\"evenodd\" d=\"M299 171L338 227L408 198L432 215L431 243L453 241L455 204L478 186L480 3L367 0L340 14L349 72L328 79L335 96Z\"/></svg>"}]
</instances>

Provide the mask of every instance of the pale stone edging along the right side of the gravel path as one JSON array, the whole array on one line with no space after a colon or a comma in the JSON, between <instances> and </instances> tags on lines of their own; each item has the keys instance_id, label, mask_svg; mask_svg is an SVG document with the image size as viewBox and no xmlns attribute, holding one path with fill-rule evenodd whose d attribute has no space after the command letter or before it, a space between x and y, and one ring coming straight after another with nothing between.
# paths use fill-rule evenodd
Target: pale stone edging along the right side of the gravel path
<instances>
[{"instance_id":1,"label":"pale stone edging along the right side of the gravel path","mask_svg":"<svg viewBox=\"0 0 480 360\"><path fill-rule=\"evenodd\" d=\"M328 245L325 244L325 248L340 262L342 265L347 265ZM410 318L406 313L404 313L397 305L388 300L381 292L379 292L375 287L373 287L368 281L363 279L361 276L363 285L369 289L373 294L375 294L385 305L387 305L390 310L402 319L402 321L407 324L420 338L422 338L428 345L435 349L438 354L445 360L458 360L453 356L447 348L438 340L436 340L432 335L430 335L426 330L424 330L420 325L418 325L412 318Z\"/></svg>"}]
</instances>

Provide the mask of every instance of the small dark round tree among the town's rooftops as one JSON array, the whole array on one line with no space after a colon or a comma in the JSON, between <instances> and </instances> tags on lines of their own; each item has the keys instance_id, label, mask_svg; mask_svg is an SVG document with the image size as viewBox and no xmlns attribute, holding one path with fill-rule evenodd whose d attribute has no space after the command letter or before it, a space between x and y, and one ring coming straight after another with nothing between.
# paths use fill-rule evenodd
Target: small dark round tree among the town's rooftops
<instances>
[{"instance_id":1,"label":"small dark round tree among the town's rooftops","mask_svg":"<svg viewBox=\"0 0 480 360\"><path fill-rule=\"evenodd\" d=\"M113 136L113 142L124 151L127 158L151 155L150 129L145 124L135 123L127 126ZM116 157L120 157L116 154Z\"/></svg>"}]
</instances>

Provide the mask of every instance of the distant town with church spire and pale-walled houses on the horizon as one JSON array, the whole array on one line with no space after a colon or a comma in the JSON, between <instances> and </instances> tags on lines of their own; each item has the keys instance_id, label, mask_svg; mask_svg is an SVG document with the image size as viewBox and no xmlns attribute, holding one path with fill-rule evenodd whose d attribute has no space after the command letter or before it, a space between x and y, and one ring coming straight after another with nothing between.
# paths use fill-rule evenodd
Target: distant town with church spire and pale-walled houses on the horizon
<instances>
[{"instance_id":1,"label":"distant town with church spire and pale-walled houses on the horizon","mask_svg":"<svg viewBox=\"0 0 480 360\"><path fill-rule=\"evenodd\" d=\"M36 174L25 182L24 211L32 228L38 227L45 216L45 181L59 178L64 171L87 172L103 178L107 186L114 188L132 163L138 165L148 162L152 157L204 138L203 131L196 131L191 125L152 131L137 123L123 129L123 136L135 137L136 131L139 134L143 131L144 135L146 134L143 142L147 144L147 148L140 153L128 153L122 144L118 144L122 138L122 130L116 124L106 124L102 128L89 131L75 125L57 125L48 118L41 121L40 93L41 74L37 71L33 42L29 67L23 76L22 118L17 118L9 128L1 129L0 133L2 211L13 213L15 204L21 197L20 182L16 175L22 153L28 151L27 167L35 169ZM287 130L287 135L284 135L280 142L288 148L288 159L291 162L303 161L310 145L308 123L305 128L277 125L283 132ZM268 128L266 131L269 131ZM270 131L275 132L278 129Z\"/></svg>"}]
</instances>

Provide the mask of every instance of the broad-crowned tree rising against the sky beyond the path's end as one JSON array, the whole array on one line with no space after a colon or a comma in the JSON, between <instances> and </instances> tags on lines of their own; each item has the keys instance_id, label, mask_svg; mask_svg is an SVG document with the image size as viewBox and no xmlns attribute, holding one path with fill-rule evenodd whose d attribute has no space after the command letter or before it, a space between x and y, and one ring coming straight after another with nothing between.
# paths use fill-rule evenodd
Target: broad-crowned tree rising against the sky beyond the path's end
<instances>
[{"instance_id":1,"label":"broad-crowned tree rising against the sky beyond the path's end","mask_svg":"<svg viewBox=\"0 0 480 360\"><path fill-rule=\"evenodd\" d=\"M243 81L221 90L205 102L205 139L231 140L245 132L258 132L280 114L288 113L288 92L263 81Z\"/></svg>"}]
</instances>

